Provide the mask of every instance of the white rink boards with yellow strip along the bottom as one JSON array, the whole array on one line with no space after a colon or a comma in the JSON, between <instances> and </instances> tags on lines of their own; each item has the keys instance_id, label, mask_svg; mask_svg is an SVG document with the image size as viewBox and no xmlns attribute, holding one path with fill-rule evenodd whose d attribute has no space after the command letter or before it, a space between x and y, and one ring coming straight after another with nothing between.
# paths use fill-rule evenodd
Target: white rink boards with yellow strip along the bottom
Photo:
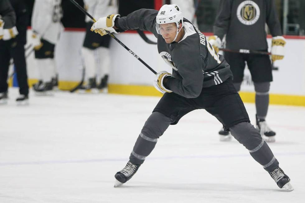
<instances>
[{"instance_id":1,"label":"white rink boards with yellow strip along the bottom","mask_svg":"<svg viewBox=\"0 0 305 203\"><path fill-rule=\"evenodd\" d=\"M71 29L61 34L55 57L59 72L59 88L62 90L72 89L82 78L81 47L84 34L83 30ZM152 34L146 35L149 39L156 41ZM155 71L171 72L171 67L159 56L157 45L145 43L134 32L121 33L116 37ZM271 39L267 40L270 44ZM286 40L286 55L283 60L276 61L274 64L278 70L273 71L274 81L270 87L270 103L305 106L305 38L290 36ZM28 41L30 44L31 39ZM152 86L154 74L147 67L113 39L111 39L110 50L112 53L110 93L160 95ZM32 83L38 76L34 54L28 58L27 62L28 75ZM254 86L247 68L244 79L241 87L242 99L245 102L254 102Z\"/></svg>"}]
</instances>

